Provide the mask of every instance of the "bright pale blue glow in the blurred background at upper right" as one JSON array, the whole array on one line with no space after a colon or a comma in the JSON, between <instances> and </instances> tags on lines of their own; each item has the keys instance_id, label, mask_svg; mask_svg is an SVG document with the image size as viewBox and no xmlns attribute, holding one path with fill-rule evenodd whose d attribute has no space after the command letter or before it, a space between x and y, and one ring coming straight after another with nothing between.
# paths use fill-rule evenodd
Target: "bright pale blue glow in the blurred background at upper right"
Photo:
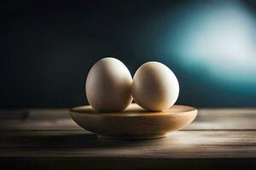
<instances>
[{"instance_id":1,"label":"bright pale blue glow in the blurred background at upper right","mask_svg":"<svg viewBox=\"0 0 256 170\"><path fill-rule=\"evenodd\" d=\"M203 67L218 82L256 83L256 18L246 6L205 4L178 16L168 48L184 68Z\"/></svg>"}]
</instances>

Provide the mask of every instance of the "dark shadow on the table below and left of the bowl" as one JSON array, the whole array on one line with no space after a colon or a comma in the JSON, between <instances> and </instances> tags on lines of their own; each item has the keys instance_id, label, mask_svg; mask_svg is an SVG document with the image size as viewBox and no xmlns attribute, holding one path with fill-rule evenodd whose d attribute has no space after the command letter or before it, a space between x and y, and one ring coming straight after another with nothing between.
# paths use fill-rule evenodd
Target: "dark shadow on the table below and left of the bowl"
<instances>
[{"instance_id":1,"label":"dark shadow on the table below and left of the bowl","mask_svg":"<svg viewBox=\"0 0 256 170\"><path fill-rule=\"evenodd\" d=\"M11 133L11 132L9 132ZM94 133L41 133L26 132L7 135L0 139L0 148L111 148L131 145L155 144L165 139L117 140L97 138Z\"/></svg>"}]
</instances>

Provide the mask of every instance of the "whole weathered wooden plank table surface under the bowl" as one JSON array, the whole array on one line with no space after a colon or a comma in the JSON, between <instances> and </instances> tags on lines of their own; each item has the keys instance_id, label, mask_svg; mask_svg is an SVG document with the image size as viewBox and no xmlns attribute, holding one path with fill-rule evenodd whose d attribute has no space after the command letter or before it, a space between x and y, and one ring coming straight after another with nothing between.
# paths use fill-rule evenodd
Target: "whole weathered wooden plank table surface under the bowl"
<instances>
[{"instance_id":1,"label":"whole weathered wooden plank table surface under the bowl","mask_svg":"<svg viewBox=\"0 0 256 170\"><path fill-rule=\"evenodd\" d=\"M1 110L1 167L256 169L256 109L200 109L189 127L138 141L97 139L67 109Z\"/></svg>"}]
</instances>

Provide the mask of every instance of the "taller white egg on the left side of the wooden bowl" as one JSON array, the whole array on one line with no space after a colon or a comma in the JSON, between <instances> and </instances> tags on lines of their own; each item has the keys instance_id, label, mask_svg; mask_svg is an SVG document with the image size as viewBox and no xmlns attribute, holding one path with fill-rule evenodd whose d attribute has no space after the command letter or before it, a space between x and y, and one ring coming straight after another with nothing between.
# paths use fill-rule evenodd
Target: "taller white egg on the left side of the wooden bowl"
<instances>
[{"instance_id":1,"label":"taller white egg on the left side of the wooden bowl","mask_svg":"<svg viewBox=\"0 0 256 170\"><path fill-rule=\"evenodd\" d=\"M131 104L132 77L127 67L111 57L100 59L88 73L85 93L96 111L123 111Z\"/></svg>"}]
</instances>

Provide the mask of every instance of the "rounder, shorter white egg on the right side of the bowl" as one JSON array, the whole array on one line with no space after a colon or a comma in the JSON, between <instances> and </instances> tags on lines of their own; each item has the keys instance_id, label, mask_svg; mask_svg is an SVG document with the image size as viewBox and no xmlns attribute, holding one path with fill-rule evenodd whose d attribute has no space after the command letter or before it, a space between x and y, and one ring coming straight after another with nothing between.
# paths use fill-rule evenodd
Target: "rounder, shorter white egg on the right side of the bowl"
<instances>
[{"instance_id":1,"label":"rounder, shorter white egg on the right side of the bowl","mask_svg":"<svg viewBox=\"0 0 256 170\"><path fill-rule=\"evenodd\" d=\"M132 83L132 97L148 111L163 111L177 100L177 77L166 65L150 61L140 66Z\"/></svg>"}]
</instances>

